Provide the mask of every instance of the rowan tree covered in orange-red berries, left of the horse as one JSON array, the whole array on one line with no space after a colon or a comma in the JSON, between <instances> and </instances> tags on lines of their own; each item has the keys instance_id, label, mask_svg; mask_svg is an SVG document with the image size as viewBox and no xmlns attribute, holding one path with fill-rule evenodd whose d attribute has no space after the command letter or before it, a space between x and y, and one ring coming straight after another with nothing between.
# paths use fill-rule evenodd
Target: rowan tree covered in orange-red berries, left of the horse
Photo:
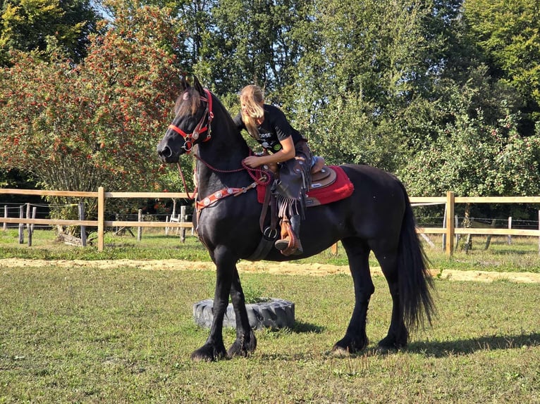
<instances>
[{"instance_id":1,"label":"rowan tree covered in orange-red berries, left of the horse","mask_svg":"<svg viewBox=\"0 0 540 404\"><path fill-rule=\"evenodd\" d=\"M31 172L45 189L163 189L155 145L179 75L161 44L176 40L174 23L149 6L117 15L122 28L90 37L75 66L63 53L50 62L19 53L1 72L1 166Z\"/></svg>"}]
</instances>

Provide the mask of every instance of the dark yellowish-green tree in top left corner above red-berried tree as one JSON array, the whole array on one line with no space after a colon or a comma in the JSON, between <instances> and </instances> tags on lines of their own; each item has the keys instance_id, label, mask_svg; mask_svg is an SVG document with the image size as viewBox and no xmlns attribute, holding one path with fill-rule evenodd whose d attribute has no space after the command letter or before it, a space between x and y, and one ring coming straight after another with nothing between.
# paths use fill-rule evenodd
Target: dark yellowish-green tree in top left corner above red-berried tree
<instances>
[{"instance_id":1,"label":"dark yellowish-green tree in top left corner above red-berried tree","mask_svg":"<svg viewBox=\"0 0 540 404\"><path fill-rule=\"evenodd\" d=\"M45 51L54 38L74 61L86 55L97 15L90 0L4 0L1 2L0 65L11 50ZM46 53L40 53L45 56Z\"/></svg>"}]
</instances>

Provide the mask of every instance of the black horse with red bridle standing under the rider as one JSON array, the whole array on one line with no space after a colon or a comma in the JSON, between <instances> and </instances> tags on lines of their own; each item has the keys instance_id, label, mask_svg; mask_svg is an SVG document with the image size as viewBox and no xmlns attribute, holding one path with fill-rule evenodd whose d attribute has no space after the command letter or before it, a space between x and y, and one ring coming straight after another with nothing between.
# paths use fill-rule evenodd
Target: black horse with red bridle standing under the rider
<instances>
[{"instance_id":1,"label":"black horse with red bridle standing under the rider","mask_svg":"<svg viewBox=\"0 0 540 404\"><path fill-rule=\"evenodd\" d=\"M236 263L250 258L262 239L259 218L262 205L249 189L252 172L242 164L250 148L235 127L221 102L203 89L195 77L193 86L183 80L183 92L176 103L176 118L157 146L166 163L197 146L195 170L198 201L207 196L207 207L200 209L197 234L216 265L214 321L204 345L192 359L216 360L247 355L257 346L250 328L245 299ZM367 165L341 166L354 184L348 198L306 209L300 239L302 255L290 258L272 248L264 260L283 261L309 257L340 240L347 252L355 286L355 308L345 336L333 346L338 353L356 353L368 344L366 318L374 285L369 271L373 251L390 288L393 308L388 335L381 348L406 346L409 332L427 320L431 323L434 303L432 282L426 258L415 231L415 218L403 184L388 172ZM244 189L244 192L238 190ZM222 197L233 192L236 197ZM202 202L202 205L204 203ZM195 217L195 215L194 215ZM223 315L228 298L235 310L236 339L226 351L223 344Z\"/></svg>"}]
</instances>

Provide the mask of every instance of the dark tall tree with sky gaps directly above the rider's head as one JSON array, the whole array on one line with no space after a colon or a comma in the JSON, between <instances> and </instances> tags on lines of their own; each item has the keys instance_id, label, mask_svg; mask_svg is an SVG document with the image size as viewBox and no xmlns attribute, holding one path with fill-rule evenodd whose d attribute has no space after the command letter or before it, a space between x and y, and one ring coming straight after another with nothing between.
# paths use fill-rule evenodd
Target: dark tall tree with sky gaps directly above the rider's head
<instances>
[{"instance_id":1,"label":"dark tall tree with sky gaps directly above the rider's head","mask_svg":"<svg viewBox=\"0 0 540 404\"><path fill-rule=\"evenodd\" d=\"M193 2L193 4L200 1ZM209 14L197 14L200 39L194 70L217 94L237 94L257 83L283 104L283 88L302 53L293 27L307 18L305 0L204 2ZM199 7L201 8L201 7ZM191 13L192 15L192 13Z\"/></svg>"}]
</instances>

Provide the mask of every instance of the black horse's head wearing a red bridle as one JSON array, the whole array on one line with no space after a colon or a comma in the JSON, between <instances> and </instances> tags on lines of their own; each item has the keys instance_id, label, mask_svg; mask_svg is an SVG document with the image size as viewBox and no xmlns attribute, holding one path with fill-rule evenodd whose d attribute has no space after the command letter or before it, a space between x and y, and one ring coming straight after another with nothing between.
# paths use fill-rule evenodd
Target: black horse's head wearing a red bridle
<instances>
[{"instance_id":1,"label":"black horse's head wearing a red bridle","mask_svg":"<svg viewBox=\"0 0 540 404\"><path fill-rule=\"evenodd\" d=\"M178 163L183 153L190 153L195 144L211 138L212 96L197 77L191 86L182 77L182 92L174 108L175 118L157 145L157 153L164 163Z\"/></svg>"}]
</instances>

